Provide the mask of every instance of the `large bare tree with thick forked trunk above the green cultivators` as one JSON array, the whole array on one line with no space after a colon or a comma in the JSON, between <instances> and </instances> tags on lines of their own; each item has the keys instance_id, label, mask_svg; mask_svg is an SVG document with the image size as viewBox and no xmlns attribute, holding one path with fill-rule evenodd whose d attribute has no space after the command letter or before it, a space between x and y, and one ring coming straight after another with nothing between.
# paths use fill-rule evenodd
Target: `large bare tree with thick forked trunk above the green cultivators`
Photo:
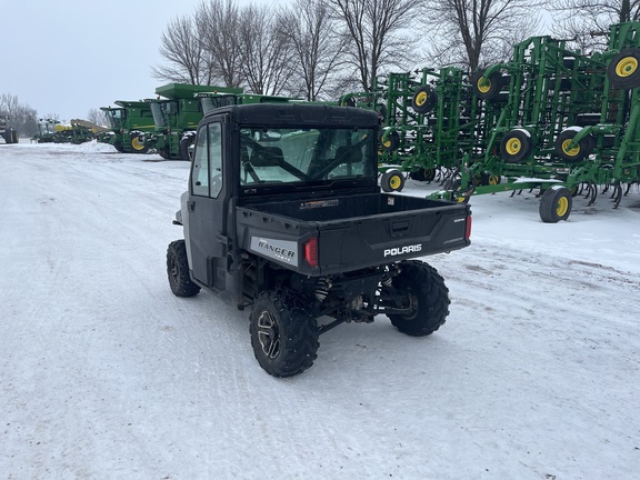
<instances>
[{"instance_id":1,"label":"large bare tree with thick forked trunk above the green cultivators","mask_svg":"<svg viewBox=\"0 0 640 480\"><path fill-rule=\"evenodd\" d=\"M513 43L534 34L543 0L427 0L429 57L474 71L509 58Z\"/></svg>"}]
</instances>

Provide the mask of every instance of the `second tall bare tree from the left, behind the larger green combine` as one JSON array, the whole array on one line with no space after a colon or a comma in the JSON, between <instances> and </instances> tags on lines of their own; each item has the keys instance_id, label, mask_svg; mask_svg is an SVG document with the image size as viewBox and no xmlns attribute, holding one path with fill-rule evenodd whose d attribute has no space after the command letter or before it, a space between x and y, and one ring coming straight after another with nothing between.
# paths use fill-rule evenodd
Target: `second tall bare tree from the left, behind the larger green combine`
<instances>
[{"instance_id":1,"label":"second tall bare tree from the left, behind the larger green combine","mask_svg":"<svg viewBox=\"0 0 640 480\"><path fill-rule=\"evenodd\" d=\"M234 0L202 2L196 12L198 37L211 76L224 87L237 88L241 83L239 24L240 11Z\"/></svg>"}]
</instances>

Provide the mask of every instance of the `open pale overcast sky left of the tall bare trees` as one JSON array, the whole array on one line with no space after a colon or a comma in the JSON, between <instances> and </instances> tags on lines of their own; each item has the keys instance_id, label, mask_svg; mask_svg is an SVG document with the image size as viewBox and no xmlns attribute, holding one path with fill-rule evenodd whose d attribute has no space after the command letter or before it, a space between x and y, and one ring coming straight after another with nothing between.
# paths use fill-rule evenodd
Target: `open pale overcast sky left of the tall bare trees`
<instances>
[{"instance_id":1,"label":"open pale overcast sky left of the tall bare trees","mask_svg":"<svg viewBox=\"0 0 640 480\"><path fill-rule=\"evenodd\" d=\"M39 117L87 118L116 100L154 97L169 22L201 0L0 0L0 93ZM272 4L273 0L240 0Z\"/></svg>"}]
</instances>

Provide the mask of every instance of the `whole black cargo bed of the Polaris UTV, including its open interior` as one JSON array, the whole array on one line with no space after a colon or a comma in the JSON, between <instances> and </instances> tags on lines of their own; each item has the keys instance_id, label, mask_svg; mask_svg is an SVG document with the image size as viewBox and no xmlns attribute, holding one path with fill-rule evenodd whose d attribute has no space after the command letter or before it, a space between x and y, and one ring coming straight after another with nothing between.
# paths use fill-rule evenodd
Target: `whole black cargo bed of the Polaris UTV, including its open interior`
<instances>
[{"instance_id":1,"label":"whole black cargo bed of the Polaris UTV, including its open interior","mask_svg":"<svg viewBox=\"0 0 640 480\"><path fill-rule=\"evenodd\" d=\"M469 244L464 203L364 193L238 207L240 244L310 276L339 273ZM304 261L317 239L317 266Z\"/></svg>"}]
</instances>

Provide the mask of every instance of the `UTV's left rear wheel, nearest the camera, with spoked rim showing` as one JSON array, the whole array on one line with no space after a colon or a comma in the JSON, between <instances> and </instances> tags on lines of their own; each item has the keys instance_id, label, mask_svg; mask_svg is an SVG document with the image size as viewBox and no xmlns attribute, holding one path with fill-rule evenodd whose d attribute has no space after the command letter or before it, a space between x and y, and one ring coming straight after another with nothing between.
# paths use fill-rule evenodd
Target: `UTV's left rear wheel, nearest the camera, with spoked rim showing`
<instances>
[{"instance_id":1,"label":"UTV's left rear wheel, nearest the camera, with spoked rim showing","mask_svg":"<svg viewBox=\"0 0 640 480\"><path fill-rule=\"evenodd\" d=\"M260 293L250 320L253 354L267 373L292 377L313 364L320 347L318 324L293 292Z\"/></svg>"}]
</instances>

